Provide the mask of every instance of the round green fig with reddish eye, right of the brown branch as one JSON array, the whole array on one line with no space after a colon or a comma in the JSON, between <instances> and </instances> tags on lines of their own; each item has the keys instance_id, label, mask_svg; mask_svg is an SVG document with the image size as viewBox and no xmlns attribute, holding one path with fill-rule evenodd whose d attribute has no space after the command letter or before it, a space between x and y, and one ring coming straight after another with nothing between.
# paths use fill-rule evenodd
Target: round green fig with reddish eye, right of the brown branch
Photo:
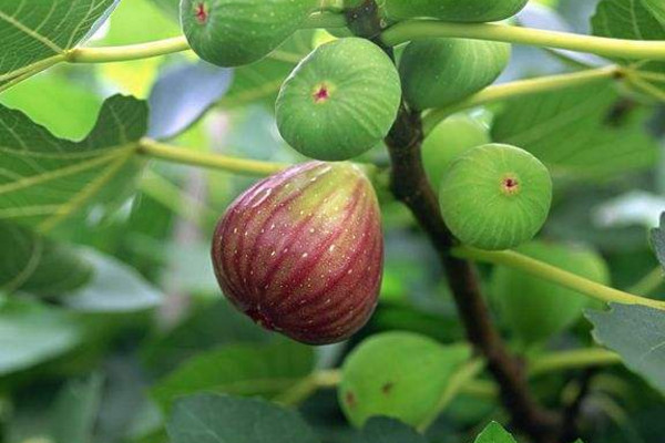
<instances>
[{"instance_id":1,"label":"round green fig with reddish eye, right of the brown branch","mask_svg":"<svg viewBox=\"0 0 665 443\"><path fill-rule=\"evenodd\" d=\"M508 249L532 239L545 223L552 179L526 151L489 144L452 162L439 202L446 224L462 244Z\"/></svg>"}]
</instances>

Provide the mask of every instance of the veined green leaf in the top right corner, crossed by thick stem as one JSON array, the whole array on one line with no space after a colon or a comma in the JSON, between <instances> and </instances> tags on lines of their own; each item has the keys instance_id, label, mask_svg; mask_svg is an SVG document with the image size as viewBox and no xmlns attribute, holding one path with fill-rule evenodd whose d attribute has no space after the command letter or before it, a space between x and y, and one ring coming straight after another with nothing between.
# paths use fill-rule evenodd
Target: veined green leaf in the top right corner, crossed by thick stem
<instances>
[{"instance_id":1,"label":"veined green leaf in the top right corner, crossed by thick stem","mask_svg":"<svg viewBox=\"0 0 665 443\"><path fill-rule=\"evenodd\" d=\"M592 19L593 33L615 39L665 40L664 4L662 0L602 0ZM628 83L665 101L665 62L640 62L635 66L638 78L628 78Z\"/></svg>"}]
</instances>

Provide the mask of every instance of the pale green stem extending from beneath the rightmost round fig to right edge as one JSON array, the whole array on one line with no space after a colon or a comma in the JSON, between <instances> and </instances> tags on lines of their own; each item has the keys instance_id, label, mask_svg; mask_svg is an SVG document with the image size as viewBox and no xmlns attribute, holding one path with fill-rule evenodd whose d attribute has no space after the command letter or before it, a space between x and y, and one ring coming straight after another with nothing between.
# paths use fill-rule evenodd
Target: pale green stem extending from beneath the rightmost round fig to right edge
<instances>
[{"instance_id":1,"label":"pale green stem extending from beneath the rightmost round fig to right edge","mask_svg":"<svg viewBox=\"0 0 665 443\"><path fill-rule=\"evenodd\" d=\"M452 255L519 269L605 302L642 305L665 310L665 301L652 300L610 288L512 250L489 251L462 246L453 248Z\"/></svg>"}]
</instances>

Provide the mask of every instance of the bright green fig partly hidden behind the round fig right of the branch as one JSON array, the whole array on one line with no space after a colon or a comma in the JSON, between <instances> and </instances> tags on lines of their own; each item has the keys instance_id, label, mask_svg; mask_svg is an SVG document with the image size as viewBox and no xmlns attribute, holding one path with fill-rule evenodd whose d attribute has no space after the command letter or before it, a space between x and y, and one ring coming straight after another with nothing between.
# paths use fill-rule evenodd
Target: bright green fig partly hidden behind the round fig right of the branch
<instances>
[{"instance_id":1,"label":"bright green fig partly hidden behind the round fig right of the branch","mask_svg":"<svg viewBox=\"0 0 665 443\"><path fill-rule=\"evenodd\" d=\"M434 189L457 156L490 142L488 126L470 115L458 114L439 123L422 142L424 172Z\"/></svg>"}]
</instances>

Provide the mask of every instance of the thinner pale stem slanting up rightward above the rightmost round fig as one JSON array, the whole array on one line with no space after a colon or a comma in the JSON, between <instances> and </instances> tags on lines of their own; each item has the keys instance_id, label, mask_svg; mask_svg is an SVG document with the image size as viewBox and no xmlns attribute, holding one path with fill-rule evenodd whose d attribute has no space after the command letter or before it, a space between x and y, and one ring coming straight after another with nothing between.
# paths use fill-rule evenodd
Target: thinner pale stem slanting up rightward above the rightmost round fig
<instances>
[{"instance_id":1,"label":"thinner pale stem slanting up rightward above the rightmost round fig","mask_svg":"<svg viewBox=\"0 0 665 443\"><path fill-rule=\"evenodd\" d=\"M454 103L447 107L430 111L422 119L424 134L429 134L437 125L448 116L488 103L501 100L523 97L543 92L561 91L569 87L595 83L602 80L622 76L623 69L612 65L593 70L580 71L570 74L541 76L538 79L519 80L515 82L490 86L475 95Z\"/></svg>"}]
</instances>

